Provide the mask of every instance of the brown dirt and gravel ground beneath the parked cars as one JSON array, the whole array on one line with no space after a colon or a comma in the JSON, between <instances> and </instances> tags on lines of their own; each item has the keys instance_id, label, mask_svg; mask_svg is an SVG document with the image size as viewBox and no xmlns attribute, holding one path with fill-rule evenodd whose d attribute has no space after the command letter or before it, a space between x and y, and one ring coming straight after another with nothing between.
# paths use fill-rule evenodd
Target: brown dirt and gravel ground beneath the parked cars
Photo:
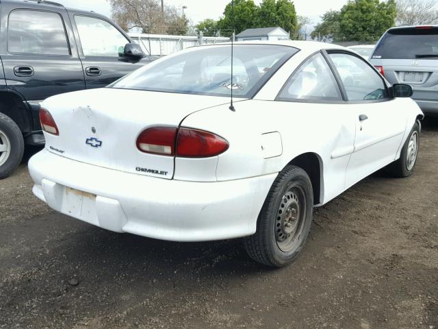
<instances>
[{"instance_id":1,"label":"brown dirt and gravel ground beneath the parked cars","mask_svg":"<svg viewBox=\"0 0 438 329\"><path fill-rule=\"evenodd\" d=\"M0 328L438 328L437 145L428 120L415 174L376 173L315 210L280 270L240 241L155 241L59 215L23 164L0 181Z\"/></svg>"}]
</instances>

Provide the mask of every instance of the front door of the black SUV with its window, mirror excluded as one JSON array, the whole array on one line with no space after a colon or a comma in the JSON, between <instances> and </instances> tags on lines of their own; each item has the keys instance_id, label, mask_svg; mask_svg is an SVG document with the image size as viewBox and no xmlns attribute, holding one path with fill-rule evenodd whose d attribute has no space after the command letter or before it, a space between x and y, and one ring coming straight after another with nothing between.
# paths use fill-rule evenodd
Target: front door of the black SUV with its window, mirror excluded
<instances>
[{"instance_id":1,"label":"front door of the black SUV with its window, mirror excluded","mask_svg":"<svg viewBox=\"0 0 438 329\"><path fill-rule=\"evenodd\" d=\"M95 16L73 15L81 47L86 88L101 88L150 62L149 58L124 56L130 40L110 21Z\"/></svg>"}]
</instances>

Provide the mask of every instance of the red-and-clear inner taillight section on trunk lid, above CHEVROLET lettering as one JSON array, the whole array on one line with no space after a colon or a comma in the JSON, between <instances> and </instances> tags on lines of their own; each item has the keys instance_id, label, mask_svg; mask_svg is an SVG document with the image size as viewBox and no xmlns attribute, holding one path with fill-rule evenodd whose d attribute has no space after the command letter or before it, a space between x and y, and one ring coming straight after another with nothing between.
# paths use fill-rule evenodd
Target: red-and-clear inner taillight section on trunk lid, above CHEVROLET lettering
<instances>
[{"instance_id":1,"label":"red-and-clear inner taillight section on trunk lid, above CHEVROLET lettering","mask_svg":"<svg viewBox=\"0 0 438 329\"><path fill-rule=\"evenodd\" d=\"M162 156L175 156L175 138L177 127L151 127L137 138L140 151Z\"/></svg>"}]
</instances>

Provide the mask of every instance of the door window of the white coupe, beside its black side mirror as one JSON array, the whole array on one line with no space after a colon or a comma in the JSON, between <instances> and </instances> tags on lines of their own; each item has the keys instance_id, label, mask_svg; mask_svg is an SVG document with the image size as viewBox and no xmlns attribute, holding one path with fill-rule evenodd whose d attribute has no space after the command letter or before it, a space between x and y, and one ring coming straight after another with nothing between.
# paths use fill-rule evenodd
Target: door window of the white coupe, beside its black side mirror
<instances>
[{"instance_id":1,"label":"door window of the white coupe, beside its black side mirror","mask_svg":"<svg viewBox=\"0 0 438 329\"><path fill-rule=\"evenodd\" d=\"M365 61L346 53L331 53L349 101L368 101L388 98L381 76Z\"/></svg>"}]
</instances>

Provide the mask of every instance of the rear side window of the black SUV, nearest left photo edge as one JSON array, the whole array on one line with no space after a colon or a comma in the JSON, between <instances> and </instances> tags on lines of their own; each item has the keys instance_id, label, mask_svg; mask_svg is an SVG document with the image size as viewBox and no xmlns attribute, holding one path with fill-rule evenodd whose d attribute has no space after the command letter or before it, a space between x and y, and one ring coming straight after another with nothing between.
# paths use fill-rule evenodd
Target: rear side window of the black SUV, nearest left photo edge
<instances>
[{"instance_id":1,"label":"rear side window of the black SUV, nearest left photo edge","mask_svg":"<svg viewBox=\"0 0 438 329\"><path fill-rule=\"evenodd\" d=\"M14 10L8 22L8 51L11 53L70 55L66 30L59 14Z\"/></svg>"}]
</instances>

